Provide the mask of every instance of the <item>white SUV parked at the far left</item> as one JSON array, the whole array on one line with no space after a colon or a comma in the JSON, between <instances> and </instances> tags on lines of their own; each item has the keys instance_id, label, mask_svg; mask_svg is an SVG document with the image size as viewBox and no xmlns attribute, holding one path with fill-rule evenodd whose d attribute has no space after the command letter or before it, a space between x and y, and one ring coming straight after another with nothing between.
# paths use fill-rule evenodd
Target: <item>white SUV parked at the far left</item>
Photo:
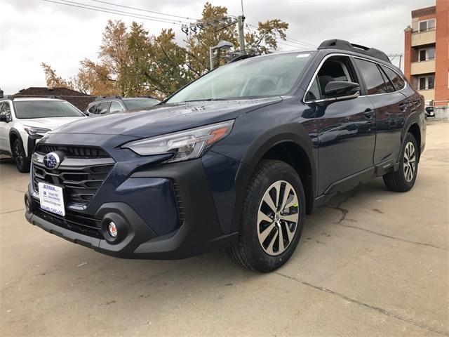
<instances>
[{"instance_id":1,"label":"white SUV parked at the far left","mask_svg":"<svg viewBox=\"0 0 449 337\"><path fill-rule=\"evenodd\" d=\"M86 116L66 100L0 98L0 154L15 159L20 172L29 171L34 145L48 131Z\"/></svg>"}]
</instances>

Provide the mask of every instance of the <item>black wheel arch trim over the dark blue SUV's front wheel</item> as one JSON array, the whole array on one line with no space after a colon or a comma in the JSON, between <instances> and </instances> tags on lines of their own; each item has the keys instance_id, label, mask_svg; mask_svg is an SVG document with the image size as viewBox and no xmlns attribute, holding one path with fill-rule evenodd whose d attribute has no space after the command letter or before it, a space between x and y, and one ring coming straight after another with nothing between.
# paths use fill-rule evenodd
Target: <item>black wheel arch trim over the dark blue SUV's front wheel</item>
<instances>
[{"instance_id":1,"label":"black wheel arch trim over the dark blue SUV's front wheel","mask_svg":"<svg viewBox=\"0 0 449 337\"><path fill-rule=\"evenodd\" d=\"M234 211L232 215L232 232L239 230L239 219L241 216L241 204L246 193L246 186L249 183L250 176L253 174L255 166L272 147L281 143L294 143L304 150L309 159L311 170L311 195L313 202L316 191L316 166L313 154L313 143L304 126L300 123L289 123L275 126L257 136L253 143L250 144L248 150L241 159L241 165L236 173L236 188L234 198ZM304 186L305 187L305 186ZM311 205L310 205L311 207Z\"/></svg>"}]
</instances>

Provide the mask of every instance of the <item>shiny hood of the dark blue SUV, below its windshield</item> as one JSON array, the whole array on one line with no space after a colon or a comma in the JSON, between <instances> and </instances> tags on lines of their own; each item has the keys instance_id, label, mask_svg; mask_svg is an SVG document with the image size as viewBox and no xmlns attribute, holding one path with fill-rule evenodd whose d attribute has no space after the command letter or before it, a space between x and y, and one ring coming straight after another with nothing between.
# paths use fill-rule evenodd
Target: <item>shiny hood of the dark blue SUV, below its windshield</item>
<instances>
[{"instance_id":1,"label":"shiny hood of the dark blue SUV, below its windshield","mask_svg":"<svg viewBox=\"0 0 449 337\"><path fill-rule=\"evenodd\" d=\"M252 110L281 102L282 98L212 100L163 104L138 112L109 114L62 126L53 133L123 135L138 138L158 136L196 126L234 119Z\"/></svg>"}]
</instances>

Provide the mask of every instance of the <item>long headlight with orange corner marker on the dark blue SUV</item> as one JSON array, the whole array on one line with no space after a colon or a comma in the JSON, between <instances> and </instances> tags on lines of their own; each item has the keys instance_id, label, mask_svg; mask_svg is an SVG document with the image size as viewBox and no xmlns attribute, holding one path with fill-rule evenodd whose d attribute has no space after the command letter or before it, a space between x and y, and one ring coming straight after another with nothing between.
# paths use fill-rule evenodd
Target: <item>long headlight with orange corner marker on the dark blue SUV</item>
<instances>
[{"instance_id":1,"label":"long headlight with orange corner marker on the dark blue SUV","mask_svg":"<svg viewBox=\"0 0 449 337\"><path fill-rule=\"evenodd\" d=\"M136 140L123 145L142 156L152 154L173 153L173 157L167 163L194 159L225 138L231 132L234 121L223 121L222 123L210 124L199 128L191 128L187 131L169 133L163 136Z\"/></svg>"}]
</instances>

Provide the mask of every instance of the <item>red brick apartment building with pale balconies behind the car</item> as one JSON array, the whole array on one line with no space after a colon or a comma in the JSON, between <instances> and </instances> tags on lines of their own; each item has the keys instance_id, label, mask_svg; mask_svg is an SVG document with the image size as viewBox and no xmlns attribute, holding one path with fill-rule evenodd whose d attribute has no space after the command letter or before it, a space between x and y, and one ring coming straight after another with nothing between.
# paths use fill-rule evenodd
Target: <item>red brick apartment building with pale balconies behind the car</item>
<instances>
[{"instance_id":1,"label":"red brick apartment building with pale balconies behind the car","mask_svg":"<svg viewBox=\"0 0 449 337\"><path fill-rule=\"evenodd\" d=\"M405 29L404 74L426 103L449 105L449 0L412 11Z\"/></svg>"}]
</instances>

